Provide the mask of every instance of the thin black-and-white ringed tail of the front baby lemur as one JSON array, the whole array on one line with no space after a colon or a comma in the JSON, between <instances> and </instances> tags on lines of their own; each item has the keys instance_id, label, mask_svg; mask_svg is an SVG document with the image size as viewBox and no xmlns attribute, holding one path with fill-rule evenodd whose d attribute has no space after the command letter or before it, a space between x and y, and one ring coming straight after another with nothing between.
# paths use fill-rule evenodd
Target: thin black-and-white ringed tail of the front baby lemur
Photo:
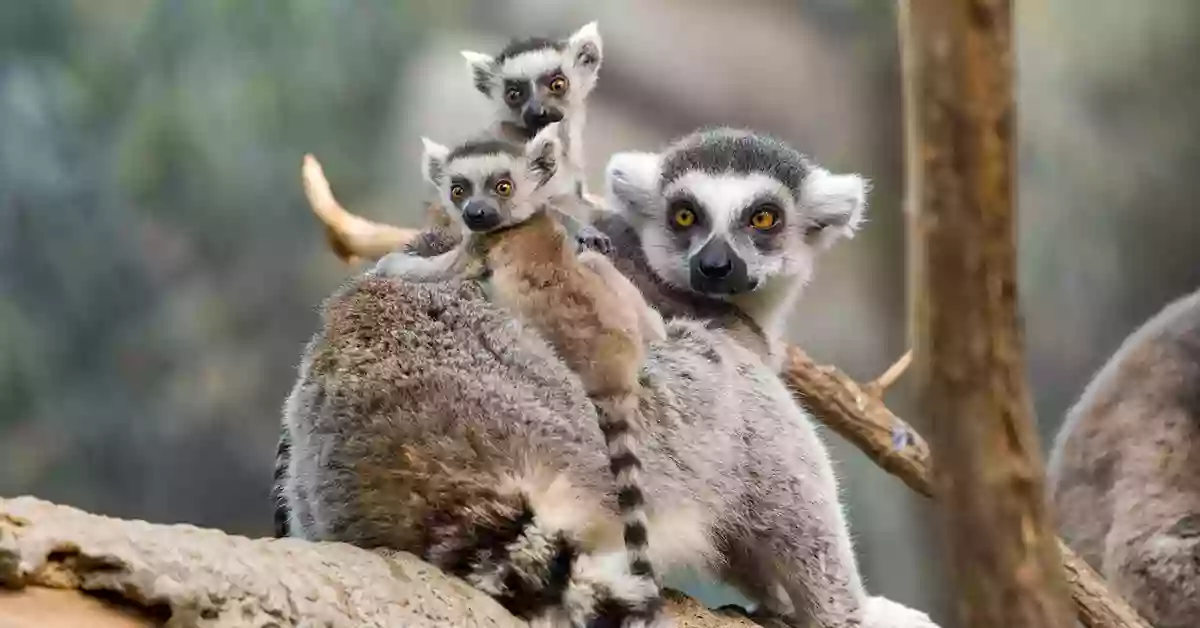
<instances>
[{"instance_id":1,"label":"thin black-and-white ringed tail of the front baby lemur","mask_svg":"<svg viewBox=\"0 0 1200 628\"><path fill-rule=\"evenodd\" d=\"M642 461L637 456L636 430L641 425L636 393L607 397L595 396L593 403L600 418L600 430L608 445L608 468L617 483L617 507L625 532L629 569L654 584L661 605L660 582L649 557L646 492L642 489Z\"/></svg>"}]
</instances>

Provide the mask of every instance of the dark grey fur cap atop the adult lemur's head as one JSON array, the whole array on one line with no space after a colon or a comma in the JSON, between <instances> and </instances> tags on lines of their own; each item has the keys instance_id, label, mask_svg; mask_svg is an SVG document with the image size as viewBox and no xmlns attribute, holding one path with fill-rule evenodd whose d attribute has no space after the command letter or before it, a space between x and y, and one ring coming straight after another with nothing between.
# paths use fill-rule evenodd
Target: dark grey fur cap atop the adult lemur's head
<instances>
[{"instance_id":1,"label":"dark grey fur cap atop the adult lemur's head","mask_svg":"<svg viewBox=\"0 0 1200 628\"><path fill-rule=\"evenodd\" d=\"M787 144L749 131L701 131L667 149L662 159L660 190L691 172L707 174L762 174L779 181L800 198L808 157Z\"/></svg>"}]
</instances>

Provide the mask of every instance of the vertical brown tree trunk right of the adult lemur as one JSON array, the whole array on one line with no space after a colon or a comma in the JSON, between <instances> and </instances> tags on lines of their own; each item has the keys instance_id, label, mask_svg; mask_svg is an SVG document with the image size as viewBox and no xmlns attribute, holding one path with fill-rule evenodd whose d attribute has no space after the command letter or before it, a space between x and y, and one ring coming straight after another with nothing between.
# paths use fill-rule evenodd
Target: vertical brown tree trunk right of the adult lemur
<instances>
[{"instance_id":1,"label":"vertical brown tree trunk right of the adult lemur","mask_svg":"<svg viewBox=\"0 0 1200 628\"><path fill-rule=\"evenodd\" d=\"M914 375L962 626L1068 628L1018 321L1012 5L900 4Z\"/></svg>"}]
</instances>

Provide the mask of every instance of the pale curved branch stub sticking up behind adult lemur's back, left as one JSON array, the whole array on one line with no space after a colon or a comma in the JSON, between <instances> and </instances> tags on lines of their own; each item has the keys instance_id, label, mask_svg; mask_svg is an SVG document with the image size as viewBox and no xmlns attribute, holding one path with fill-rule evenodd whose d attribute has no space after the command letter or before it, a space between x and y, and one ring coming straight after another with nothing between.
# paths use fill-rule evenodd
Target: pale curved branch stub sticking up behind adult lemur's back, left
<instances>
[{"instance_id":1,"label":"pale curved branch stub sticking up behind adult lemur's back, left","mask_svg":"<svg viewBox=\"0 0 1200 628\"><path fill-rule=\"evenodd\" d=\"M338 259L350 264L376 261L416 238L416 229L374 222L347 211L334 197L317 157L304 156L301 174L305 197L324 225L325 238Z\"/></svg>"}]
</instances>

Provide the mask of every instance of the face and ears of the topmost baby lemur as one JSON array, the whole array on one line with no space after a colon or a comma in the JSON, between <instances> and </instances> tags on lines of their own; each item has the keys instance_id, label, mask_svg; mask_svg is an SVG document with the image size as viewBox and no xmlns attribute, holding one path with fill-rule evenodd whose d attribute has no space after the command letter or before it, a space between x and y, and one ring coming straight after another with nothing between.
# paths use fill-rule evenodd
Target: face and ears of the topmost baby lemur
<instances>
[{"instance_id":1,"label":"face and ears of the topmost baby lemur","mask_svg":"<svg viewBox=\"0 0 1200 628\"><path fill-rule=\"evenodd\" d=\"M566 40L522 40L494 58L462 55L475 89L497 103L500 120L532 136L583 106L600 70L601 40L593 22Z\"/></svg>"}]
</instances>

